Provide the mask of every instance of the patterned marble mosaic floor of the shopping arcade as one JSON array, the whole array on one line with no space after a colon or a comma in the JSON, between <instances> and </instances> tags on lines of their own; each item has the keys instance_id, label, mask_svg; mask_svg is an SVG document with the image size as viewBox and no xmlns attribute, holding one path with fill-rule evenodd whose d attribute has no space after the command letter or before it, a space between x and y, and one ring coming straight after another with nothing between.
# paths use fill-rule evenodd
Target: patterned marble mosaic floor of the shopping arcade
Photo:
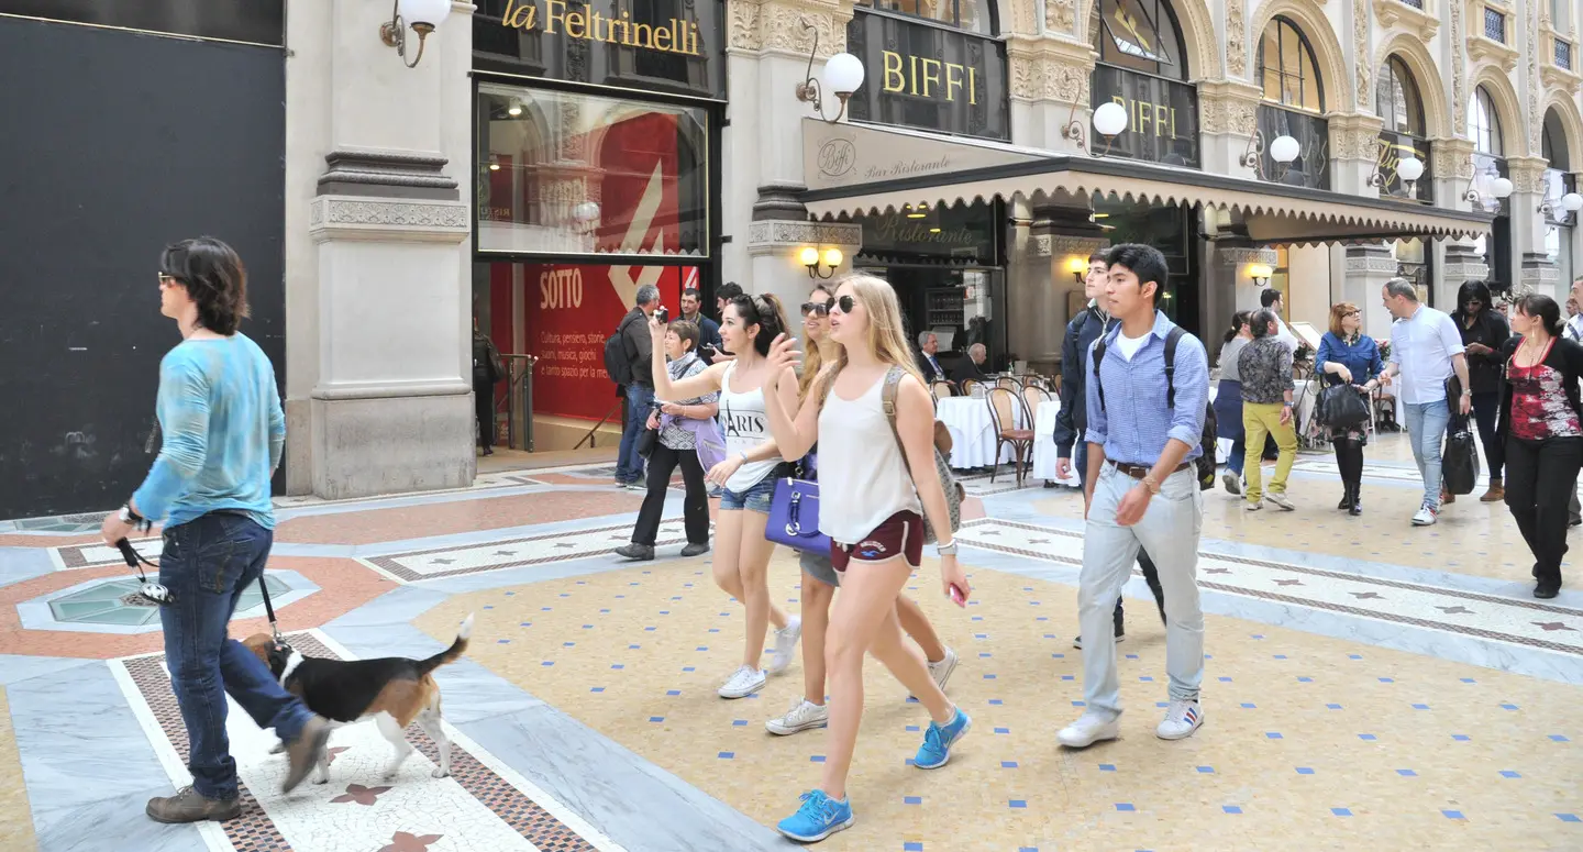
<instances>
[{"instance_id":1,"label":"patterned marble mosaic floor of the shopping arcade","mask_svg":"<svg viewBox=\"0 0 1583 852\"><path fill-rule=\"evenodd\" d=\"M1083 708L1073 649L1081 499L969 477L966 610L926 557L912 591L961 657L948 694L975 719L942 771L910 757L928 724L882 668L839 850L1583 849L1583 586L1534 600L1505 508L1475 491L1414 529L1399 436L1368 450L1366 513L1336 512L1334 464L1304 455L1293 513L1205 494L1206 724L1165 743L1164 629L1141 578L1118 646L1122 738L1065 751ZM0 523L0 849L633 850L788 849L773 831L818 781L823 732L765 732L803 695L801 660L750 698L716 697L742 611L679 559L679 493L660 559L627 564L640 494L608 462L495 470L469 489L356 502L282 499L271 559L280 629L312 656L426 657L475 616L435 673L453 771L418 727L385 776L374 725L331 740L328 784L279 793L283 759L230 716L244 816L157 825L187 784L187 738L157 618L95 518ZM1577 535L1577 534L1575 534ZM158 554L158 540L138 543ZM790 553L771 564L796 611ZM244 600L233 635L266 630Z\"/></svg>"}]
</instances>

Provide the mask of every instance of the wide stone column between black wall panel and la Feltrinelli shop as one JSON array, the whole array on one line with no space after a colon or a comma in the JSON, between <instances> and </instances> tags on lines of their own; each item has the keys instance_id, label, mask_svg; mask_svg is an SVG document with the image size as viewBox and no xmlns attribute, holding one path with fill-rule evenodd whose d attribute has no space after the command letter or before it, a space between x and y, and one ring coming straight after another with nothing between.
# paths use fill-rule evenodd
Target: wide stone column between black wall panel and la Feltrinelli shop
<instances>
[{"instance_id":1,"label":"wide stone column between black wall panel and la Feltrinelli shop","mask_svg":"<svg viewBox=\"0 0 1583 852\"><path fill-rule=\"evenodd\" d=\"M416 68L380 41L385 6L291 11L288 489L467 486L472 5L453 5Z\"/></svg>"}]
</instances>

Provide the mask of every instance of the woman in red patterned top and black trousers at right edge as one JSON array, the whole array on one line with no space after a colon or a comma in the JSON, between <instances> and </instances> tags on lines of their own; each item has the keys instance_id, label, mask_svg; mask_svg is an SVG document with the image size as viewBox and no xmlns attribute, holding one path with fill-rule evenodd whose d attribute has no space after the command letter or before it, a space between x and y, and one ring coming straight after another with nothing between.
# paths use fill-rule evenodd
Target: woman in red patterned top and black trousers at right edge
<instances>
[{"instance_id":1,"label":"woman in red patterned top and black trousers at right edge","mask_svg":"<svg viewBox=\"0 0 1583 852\"><path fill-rule=\"evenodd\" d=\"M1501 382L1505 439L1505 507L1534 554L1534 597L1561 591L1567 553L1567 502L1583 464L1583 345L1562 337L1561 307L1550 296L1517 299L1512 331L1521 334Z\"/></svg>"}]
</instances>

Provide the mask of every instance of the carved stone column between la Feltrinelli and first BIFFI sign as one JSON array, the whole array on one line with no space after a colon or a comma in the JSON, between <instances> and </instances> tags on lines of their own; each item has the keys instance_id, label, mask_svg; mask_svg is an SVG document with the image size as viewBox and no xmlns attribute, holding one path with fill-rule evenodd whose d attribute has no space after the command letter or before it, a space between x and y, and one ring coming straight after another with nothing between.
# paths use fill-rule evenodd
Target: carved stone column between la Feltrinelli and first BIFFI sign
<instances>
[{"instance_id":1,"label":"carved stone column between la Feltrinelli and first BIFFI sign","mask_svg":"<svg viewBox=\"0 0 1583 852\"><path fill-rule=\"evenodd\" d=\"M804 21L814 32L803 27ZM727 6L731 124L722 135L722 173L728 179L722 187L720 231L731 241L720 252L722 280L750 291L782 285L754 279L761 264L750 247L747 223L757 219L758 187L803 182L801 122L814 108L796 98L796 87L807 79L810 52L812 74L818 79L825 60L845 51L848 21L852 0L733 0ZM875 70L867 68L866 74L872 86ZM825 114L836 117L841 103L831 93L823 100Z\"/></svg>"}]
</instances>

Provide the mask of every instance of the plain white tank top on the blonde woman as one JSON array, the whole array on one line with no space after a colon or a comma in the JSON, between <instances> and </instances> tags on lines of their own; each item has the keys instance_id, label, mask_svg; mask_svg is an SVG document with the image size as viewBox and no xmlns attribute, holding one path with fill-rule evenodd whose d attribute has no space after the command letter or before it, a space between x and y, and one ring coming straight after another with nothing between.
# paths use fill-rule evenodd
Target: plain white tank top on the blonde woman
<instances>
[{"instance_id":1,"label":"plain white tank top on the blonde woman","mask_svg":"<svg viewBox=\"0 0 1583 852\"><path fill-rule=\"evenodd\" d=\"M852 402L833 388L818 412L818 531L842 545L861 542L898 512L923 513L883 399L880 375Z\"/></svg>"}]
</instances>

